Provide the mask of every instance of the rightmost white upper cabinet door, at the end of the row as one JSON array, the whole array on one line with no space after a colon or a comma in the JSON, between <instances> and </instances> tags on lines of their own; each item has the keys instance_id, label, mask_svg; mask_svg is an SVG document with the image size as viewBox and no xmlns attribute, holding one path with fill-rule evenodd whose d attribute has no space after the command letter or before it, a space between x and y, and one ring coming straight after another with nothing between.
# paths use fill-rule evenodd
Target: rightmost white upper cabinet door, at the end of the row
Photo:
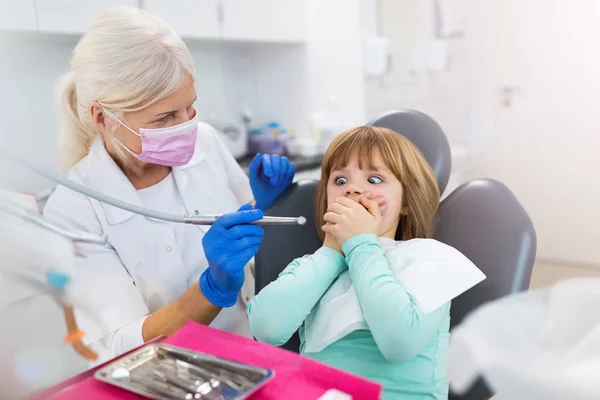
<instances>
[{"instance_id":1,"label":"rightmost white upper cabinet door, at the end of the row","mask_svg":"<svg viewBox=\"0 0 600 400\"><path fill-rule=\"evenodd\" d=\"M306 0L221 0L223 38L303 42Z\"/></svg>"}]
</instances>

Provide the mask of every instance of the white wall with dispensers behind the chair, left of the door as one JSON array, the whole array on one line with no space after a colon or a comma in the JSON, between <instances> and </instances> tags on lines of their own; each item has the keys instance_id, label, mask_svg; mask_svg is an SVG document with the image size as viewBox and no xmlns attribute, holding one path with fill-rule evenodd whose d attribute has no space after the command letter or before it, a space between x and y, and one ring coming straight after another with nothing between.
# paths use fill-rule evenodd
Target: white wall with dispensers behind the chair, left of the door
<instances>
[{"instance_id":1,"label":"white wall with dispensers behind the chair, left of the door","mask_svg":"<svg viewBox=\"0 0 600 400\"><path fill-rule=\"evenodd\" d=\"M391 40L392 72L367 80L369 118L396 108L413 108L431 115L447 133L452 146L467 151L461 161L461 181L489 175L493 98L495 18L493 0L462 0L465 35L448 40L450 64L445 72L415 74L412 51L431 37L433 0L361 0L363 31ZM485 101L483 100L485 99Z\"/></svg>"}]
</instances>

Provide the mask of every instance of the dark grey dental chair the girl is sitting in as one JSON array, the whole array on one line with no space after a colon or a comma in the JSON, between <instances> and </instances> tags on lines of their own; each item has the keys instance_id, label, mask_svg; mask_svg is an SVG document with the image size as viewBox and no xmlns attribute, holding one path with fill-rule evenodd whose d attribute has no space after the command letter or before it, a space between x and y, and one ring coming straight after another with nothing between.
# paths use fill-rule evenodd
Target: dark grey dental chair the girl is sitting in
<instances>
[{"instance_id":1,"label":"dark grey dental chair the girl is sitting in","mask_svg":"<svg viewBox=\"0 0 600 400\"><path fill-rule=\"evenodd\" d=\"M411 140L432 166L443 193L452 166L450 146L441 127L429 116L413 110L386 113L368 125L389 128ZM268 210L269 215L303 215L305 226L266 226L256 255L256 293L277 279L295 258L314 253L322 242L314 221L313 198L317 181L294 184ZM500 297L527 290L536 253L532 221L512 192L492 179L474 179L450 193L436 215L435 239L455 247L477 265L487 279L452 301L451 327L475 308ZM498 321L502 323L502 321ZM299 351L298 333L283 346ZM451 400L487 400L491 393L483 381Z\"/></svg>"}]
</instances>

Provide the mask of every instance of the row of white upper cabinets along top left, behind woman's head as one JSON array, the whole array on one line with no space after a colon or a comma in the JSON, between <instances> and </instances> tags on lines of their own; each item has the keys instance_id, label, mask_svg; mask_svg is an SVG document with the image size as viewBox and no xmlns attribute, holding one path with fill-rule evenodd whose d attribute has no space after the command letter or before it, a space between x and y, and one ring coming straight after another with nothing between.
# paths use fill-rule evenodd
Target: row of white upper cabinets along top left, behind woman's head
<instances>
[{"instance_id":1,"label":"row of white upper cabinets along top left, behind woman's head","mask_svg":"<svg viewBox=\"0 0 600 400\"><path fill-rule=\"evenodd\" d=\"M301 43L307 0L0 0L0 30L84 34L111 7L142 7L184 38Z\"/></svg>"}]
</instances>

